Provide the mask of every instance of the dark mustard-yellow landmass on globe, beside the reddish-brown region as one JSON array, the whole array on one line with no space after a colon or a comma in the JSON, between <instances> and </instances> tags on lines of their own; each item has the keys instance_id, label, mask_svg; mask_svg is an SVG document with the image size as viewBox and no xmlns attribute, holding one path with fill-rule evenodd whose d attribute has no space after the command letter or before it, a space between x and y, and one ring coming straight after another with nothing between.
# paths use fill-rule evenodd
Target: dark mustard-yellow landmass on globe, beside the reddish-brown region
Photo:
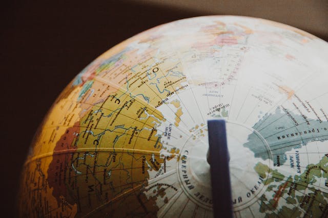
<instances>
[{"instance_id":1,"label":"dark mustard-yellow landmass on globe, beside the reddish-brown region","mask_svg":"<svg viewBox=\"0 0 328 218\"><path fill-rule=\"evenodd\" d=\"M95 80L92 88L101 89L102 84L103 81ZM94 92L95 95L99 93ZM164 158L159 153L162 144L156 125L163 116L122 89L108 89L104 96L110 97L89 107L80 119L78 152L73 154L75 161L72 162L79 173L67 187L73 193L76 189L72 187L79 187L79 214L98 214L96 209L100 207L101 211L119 217L137 209L129 207L125 213L119 213L117 209L121 206L117 202L127 198L131 200L129 204L140 205L135 195L130 196L130 191L145 199L141 189L147 185L148 171L161 168ZM158 209L154 203L145 202L145 206L150 211Z\"/></svg>"}]
</instances>

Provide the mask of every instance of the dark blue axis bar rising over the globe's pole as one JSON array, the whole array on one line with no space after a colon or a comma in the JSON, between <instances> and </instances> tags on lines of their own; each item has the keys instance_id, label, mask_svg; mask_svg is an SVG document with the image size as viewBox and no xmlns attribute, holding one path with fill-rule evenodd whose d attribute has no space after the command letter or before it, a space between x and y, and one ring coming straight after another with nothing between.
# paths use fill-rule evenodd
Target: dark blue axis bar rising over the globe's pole
<instances>
[{"instance_id":1,"label":"dark blue axis bar rising over the globe's pole","mask_svg":"<svg viewBox=\"0 0 328 218\"><path fill-rule=\"evenodd\" d=\"M209 162L214 217L233 217L226 122L208 120Z\"/></svg>"}]
</instances>

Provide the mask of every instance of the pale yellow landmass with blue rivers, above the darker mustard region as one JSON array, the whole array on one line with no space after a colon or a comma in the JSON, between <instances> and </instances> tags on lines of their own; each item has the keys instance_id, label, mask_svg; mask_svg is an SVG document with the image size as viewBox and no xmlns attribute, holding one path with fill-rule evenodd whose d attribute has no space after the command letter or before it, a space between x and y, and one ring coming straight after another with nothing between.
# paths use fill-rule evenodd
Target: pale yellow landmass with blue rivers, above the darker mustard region
<instances>
[{"instance_id":1,"label":"pale yellow landmass with blue rivers, above the darker mustard region","mask_svg":"<svg viewBox=\"0 0 328 218\"><path fill-rule=\"evenodd\" d=\"M126 56L119 66L106 69L101 77L103 82L128 90L153 107L164 104L172 94L187 87L182 85L187 78L183 76L178 54L155 50L144 55L129 51Z\"/></svg>"}]
</instances>

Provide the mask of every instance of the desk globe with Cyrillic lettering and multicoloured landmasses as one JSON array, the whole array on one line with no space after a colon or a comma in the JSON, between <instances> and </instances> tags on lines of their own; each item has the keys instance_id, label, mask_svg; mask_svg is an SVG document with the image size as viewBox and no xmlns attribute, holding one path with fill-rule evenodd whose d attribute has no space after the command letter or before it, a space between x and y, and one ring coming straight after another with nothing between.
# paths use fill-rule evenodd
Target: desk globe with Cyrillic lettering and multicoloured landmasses
<instances>
[{"instance_id":1,"label":"desk globe with Cyrillic lettering and multicoloured landmasses","mask_svg":"<svg viewBox=\"0 0 328 218\"><path fill-rule=\"evenodd\" d=\"M327 57L311 34L239 16L121 42L40 125L19 215L212 217L207 120L221 118L235 217L327 217Z\"/></svg>"}]
</instances>

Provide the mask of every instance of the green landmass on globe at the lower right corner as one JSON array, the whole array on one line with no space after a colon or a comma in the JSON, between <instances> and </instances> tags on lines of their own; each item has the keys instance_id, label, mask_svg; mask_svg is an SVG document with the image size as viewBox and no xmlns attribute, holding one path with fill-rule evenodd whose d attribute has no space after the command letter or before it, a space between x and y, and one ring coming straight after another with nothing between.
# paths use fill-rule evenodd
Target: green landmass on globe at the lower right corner
<instances>
[{"instance_id":1,"label":"green landmass on globe at the lower right corner","mask_svg":"<svg viewBox=\"0 0 328 218\"><path fill-rule=\"evenodd\" d=\"M285 178L277 170L268 174L269 166L260 162L254 169L265 179L263 184L267 186L260 197L260 212L266 213L265 217L299 217L301 214L303 217L328 217L328 193L314 185L318 179L328 182L326 156L319 163L306 166L305 171L294 178ZM273 194L268 196L269 192Z\"/></svg>"}]
</instances>

